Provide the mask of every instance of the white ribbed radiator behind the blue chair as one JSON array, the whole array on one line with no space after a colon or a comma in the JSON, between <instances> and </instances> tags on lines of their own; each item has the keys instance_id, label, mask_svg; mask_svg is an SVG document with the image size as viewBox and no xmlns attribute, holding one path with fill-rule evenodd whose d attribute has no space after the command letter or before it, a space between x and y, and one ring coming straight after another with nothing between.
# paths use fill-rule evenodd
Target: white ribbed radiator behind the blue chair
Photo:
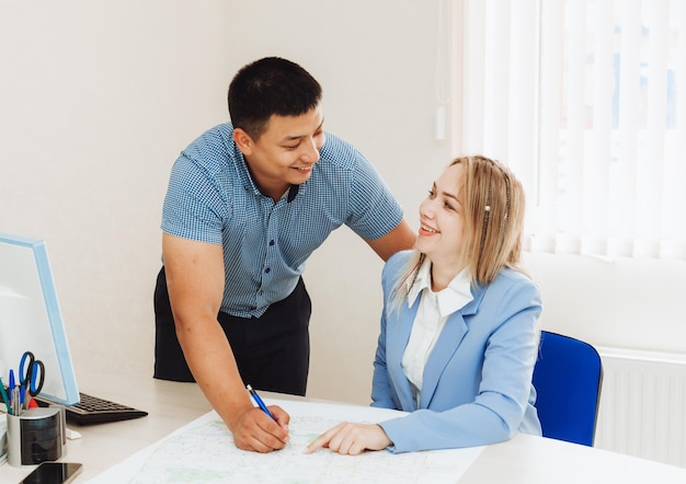
<instances>
[{"instance_id":1,"label":"white ribbed radiator behind the blue chair","mask_svg":"<svg viewBox=\"0 0 686 484\"><path fill-rule=\"evenodd\" d=\"M686 355L597 347L594 446L686 468Z\"/></svg>"}]
</instances>

